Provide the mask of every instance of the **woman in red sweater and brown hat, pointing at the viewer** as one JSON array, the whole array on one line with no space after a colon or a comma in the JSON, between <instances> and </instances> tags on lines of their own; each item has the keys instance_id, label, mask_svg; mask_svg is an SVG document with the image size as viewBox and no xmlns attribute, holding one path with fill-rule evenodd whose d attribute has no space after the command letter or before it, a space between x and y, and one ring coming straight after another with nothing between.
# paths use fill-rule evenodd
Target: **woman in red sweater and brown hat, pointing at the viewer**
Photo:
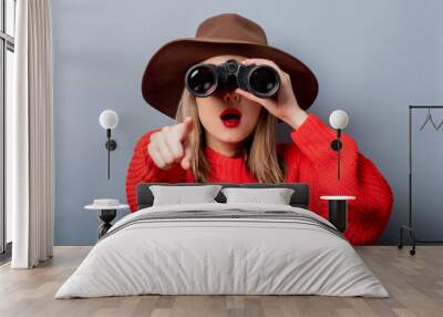
<instances>
[{"instance_id":1,"label":"woman in red sweater and brown hat, pointing at the viewer","mask_svg":"<svg viewBox=\"0 0 443 317\"><path fill-rule=\"evenodd\" d=\"M276 99L260 99L244 90L195 98L184 89L185 71L195 63L220 64L235 59L244 64L267 64L280 75ZM167 43L151 59L144 73L145 100L174 116L177 124L145 133L131 160L126 192L136 209L141 182L279 183L310 185L309 208L328 217L321 195L353 195L348 229L352 244L375 241L392 209L390 185L375 165L342 133L341 178L336 132L306 110L317 96L313 73L299 60L267 44L262 29L237 14L204 21L196 38ZM278 144L278 121L289 124L292 142Z\"/></svg>"}]
</instances>

